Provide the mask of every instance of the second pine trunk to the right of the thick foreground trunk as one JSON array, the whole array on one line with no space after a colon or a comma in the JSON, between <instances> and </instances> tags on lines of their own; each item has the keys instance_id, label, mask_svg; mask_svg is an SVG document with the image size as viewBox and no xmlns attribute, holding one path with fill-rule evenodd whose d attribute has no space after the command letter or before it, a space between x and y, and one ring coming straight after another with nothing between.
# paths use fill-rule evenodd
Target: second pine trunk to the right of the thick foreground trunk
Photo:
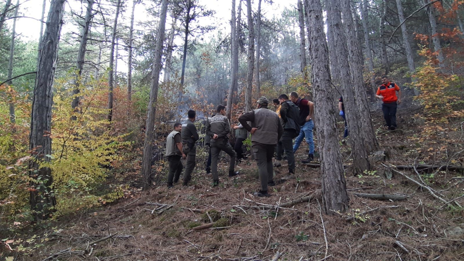
<instances>
[{"instance_id":1,"label":"second pine trunk to the right of the thick foreground trunk","mask_svg":"<svg viewBox=\"0 0 464 261\"><path fill-rule=\"evenodd\" d=\"M375 138L371 113L367 102L366 89L364 87L364 79L362 78L361 58L356 47L358 45L358 41L356 40L356 33L354 30L354 20L353 14L351 13L352 9L350 7L350 0L340 0L340 4L347 37L347 46L350 58L349 65L351 70L351 79L353 81L354 96L360 113L359 120L361 121L361 127L363 130L362 135L367 147L366 150L372 152L377 148L378 143Z\"/></svg>"}]
</instances>

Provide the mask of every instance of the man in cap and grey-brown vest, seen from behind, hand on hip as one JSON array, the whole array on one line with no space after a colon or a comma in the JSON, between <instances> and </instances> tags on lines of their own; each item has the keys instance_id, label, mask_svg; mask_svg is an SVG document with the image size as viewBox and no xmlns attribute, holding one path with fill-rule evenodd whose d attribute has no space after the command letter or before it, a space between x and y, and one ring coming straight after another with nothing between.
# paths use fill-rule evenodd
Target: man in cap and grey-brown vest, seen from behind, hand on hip
<instances>
[{"instance_id":1,"label":"man in cap and grey-brown vest, seen from behind, hand on hip","mask_svg":"<svg viewBox=\"0 0 464 261\"><path fill-rule=\"evenodd\" d=\"M277 142L282 137L284 129L279 117L274 111L268 109L268 99L258 99L258 109L249 111L238 117L238 121L251 133L251 153L258 165L261 190L255 196L269 196L268 185L274 186L274 170L272 157ZM247 123L251 122L251 126Z\"/></svg>"}]
</instances>

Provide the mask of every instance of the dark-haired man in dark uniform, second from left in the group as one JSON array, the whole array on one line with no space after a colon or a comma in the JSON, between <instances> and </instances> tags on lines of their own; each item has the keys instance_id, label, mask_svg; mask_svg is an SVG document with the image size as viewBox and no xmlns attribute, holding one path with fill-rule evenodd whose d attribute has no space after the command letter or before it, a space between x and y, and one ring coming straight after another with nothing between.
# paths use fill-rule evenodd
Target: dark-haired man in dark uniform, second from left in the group
<instances>
[{"instance_id":1,"label":"dark-haired man in dark uniform, second from left in the group","mask_svg":"<svg viewBox=\"0 0 464 261\"><path fill-rule=\"evenodd\" d=\"M193 110L187 111L188 119L182 123L182 151L185 155L187 155L187 162L185 166L185 173L184 173L184 182L182 185L187 186L188 182L192 178L192 172L195 168L195 156L196 156L196 149L195 143L199 139L197 128L193 122L195 121L197 114Z\"/></svg>"}]
</instances>

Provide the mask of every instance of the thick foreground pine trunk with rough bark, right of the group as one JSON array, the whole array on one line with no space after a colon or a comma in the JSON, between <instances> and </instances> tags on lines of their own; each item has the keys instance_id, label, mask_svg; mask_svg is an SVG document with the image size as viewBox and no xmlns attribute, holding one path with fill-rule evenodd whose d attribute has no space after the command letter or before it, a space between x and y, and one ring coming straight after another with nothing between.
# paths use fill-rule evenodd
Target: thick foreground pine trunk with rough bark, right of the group
<instances>
[{"instance_id":1,"label":"thick foreground pine trunk with rough bark, right of the group","mask_svg":"<svg viewBox=\"0 0 464 261\"><path fill-rule=\"evenodd\" d=\"M319 0L308 2L311 28L308 37L311 80L314 89L315 124L317 126L318 148L322 173L322 203L326 214L331 210L345 212L348 207L348 193L338 144L338 133L333 113L333 89L329 71L329 52L324 33L322 7Z\"/></svg>"}]
</instances>

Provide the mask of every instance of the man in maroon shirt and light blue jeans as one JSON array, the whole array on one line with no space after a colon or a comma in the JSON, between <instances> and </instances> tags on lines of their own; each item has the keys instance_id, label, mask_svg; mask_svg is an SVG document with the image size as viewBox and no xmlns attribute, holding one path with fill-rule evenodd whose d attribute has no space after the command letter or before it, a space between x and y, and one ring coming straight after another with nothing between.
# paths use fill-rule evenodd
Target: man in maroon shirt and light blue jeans
<instances>
[{"instance_id":1,"label":"man in maroon shirt and light blue jeans","mask_svg":"<svg viewBox=\"0 0 464 261\"><path fill-rule=\"evenodd\" d=\"M310 163L314 160L314 141L313 141L313 128L314 122L314 103L307 99L299 98L298 94L293 91L290 93L290 100L300 109L299 123L301 125L300 134L295 138L295 145L293 145L293 153L300 147L303 138L306 138L306 143L309 146L308 159L302 163Z\"/></svg>"}]
</instances>

